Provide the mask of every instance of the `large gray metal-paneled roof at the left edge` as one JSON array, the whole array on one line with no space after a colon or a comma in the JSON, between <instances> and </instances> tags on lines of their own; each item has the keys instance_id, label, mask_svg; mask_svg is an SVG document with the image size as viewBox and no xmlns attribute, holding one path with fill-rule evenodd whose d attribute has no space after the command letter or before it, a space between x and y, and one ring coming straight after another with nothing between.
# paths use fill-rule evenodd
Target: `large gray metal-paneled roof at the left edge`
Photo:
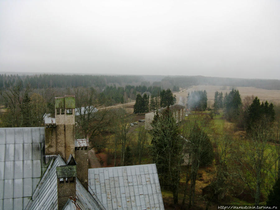
<instances>
[{"instance_id":1,"label":"large gray metal-paneled roof at the left edge","mask_svg":"<svg viewBox=\"0 0 280 210\"><path fill-rule=\"evenodd\" d=\"M41 173L43 128L0 128L0 209L24 209Z\"/></svg>"}]
</instances>

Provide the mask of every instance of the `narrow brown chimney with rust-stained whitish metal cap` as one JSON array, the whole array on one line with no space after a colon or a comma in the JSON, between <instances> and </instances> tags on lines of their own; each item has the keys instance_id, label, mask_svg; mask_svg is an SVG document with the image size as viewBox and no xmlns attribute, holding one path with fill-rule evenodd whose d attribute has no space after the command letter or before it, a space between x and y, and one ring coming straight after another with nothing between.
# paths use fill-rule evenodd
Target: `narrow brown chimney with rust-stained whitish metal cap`
<instances>
[{"instance_id":1,"label":"narrow brown chimney with rust-stained whitish metal cap","mask_svg":"<svg viewBox=\"0 0 280 210\"><path fill-rule=\"evenodd\" d=\"M75 139L75 158L77 162L77 178L88 190L88 139Z\"/></svg>"}]
</instances>

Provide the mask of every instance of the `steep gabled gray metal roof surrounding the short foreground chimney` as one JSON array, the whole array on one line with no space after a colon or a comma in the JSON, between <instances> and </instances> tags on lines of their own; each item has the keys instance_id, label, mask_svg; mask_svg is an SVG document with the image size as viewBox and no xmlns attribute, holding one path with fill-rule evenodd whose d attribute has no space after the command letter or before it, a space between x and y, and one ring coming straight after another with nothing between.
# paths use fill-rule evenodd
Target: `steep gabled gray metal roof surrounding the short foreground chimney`
<instances>
[{"instance_id":1,"label":"steep gabled gray metal roof surrounding the short foreground chimney","mask_svg":"<svg viewBox=\"0 0 280 210\"><path fill-rule=\"evenodd\" d=\"M38 184L26 209L57 209L57 174L56 167L66 165L60 155L54 157ZM103 205L93 197L76 179L76 201L68 199L63 209L103 209Z\"/></svg>"}]
</instances>

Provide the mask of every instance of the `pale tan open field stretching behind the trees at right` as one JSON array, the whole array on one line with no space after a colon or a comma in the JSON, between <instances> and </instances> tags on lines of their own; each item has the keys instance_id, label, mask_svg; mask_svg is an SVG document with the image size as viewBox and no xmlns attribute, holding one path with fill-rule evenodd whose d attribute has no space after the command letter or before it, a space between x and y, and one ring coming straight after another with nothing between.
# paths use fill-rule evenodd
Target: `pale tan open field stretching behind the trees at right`
<instances>
[{"instance_id":1,"label":"pale tan open field stretching behind the trees at right","mask_svg":"<svg viewBox=\"0 0 280 210\"><path fill-rule=\"evenodd\" d=\"M223 93L225 96L226 92L229 93L231 91L230 86L214 86L214 85L198 85L198 86L191 86L190 88L176 93L177 103L183 103L186 105L188 92L195 91L195 90L206 90L207 97L210 105L214 103L214 96L215 91L219 91ZM260 101L267 100L269 103L272 102L273 104L280 104L280 90L265 90L255 87L235 87L240 93L241 99L243 100L246 96L258 96Z\"/></svg>"}]
</instances>

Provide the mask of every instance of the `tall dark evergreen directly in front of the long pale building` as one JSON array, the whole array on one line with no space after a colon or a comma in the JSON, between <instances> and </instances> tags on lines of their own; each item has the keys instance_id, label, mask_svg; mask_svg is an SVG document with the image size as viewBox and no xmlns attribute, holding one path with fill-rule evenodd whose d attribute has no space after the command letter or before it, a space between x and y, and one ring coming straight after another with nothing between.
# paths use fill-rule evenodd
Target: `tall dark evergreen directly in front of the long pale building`
<instances>
[{"instance_id":1,"label":"tall dark evergreen directly in front of the long pale building","mask_svg":"<svg viewBox=\"0 0 280 210\"><path fill-rule=\"evenodd\" d=\"M161 115L156 113L152 121L152 152L161 186L172 191L174 203L178 203L180 171L184 139L173 113L167 108Z\"/></svg>"}]
</instances>

